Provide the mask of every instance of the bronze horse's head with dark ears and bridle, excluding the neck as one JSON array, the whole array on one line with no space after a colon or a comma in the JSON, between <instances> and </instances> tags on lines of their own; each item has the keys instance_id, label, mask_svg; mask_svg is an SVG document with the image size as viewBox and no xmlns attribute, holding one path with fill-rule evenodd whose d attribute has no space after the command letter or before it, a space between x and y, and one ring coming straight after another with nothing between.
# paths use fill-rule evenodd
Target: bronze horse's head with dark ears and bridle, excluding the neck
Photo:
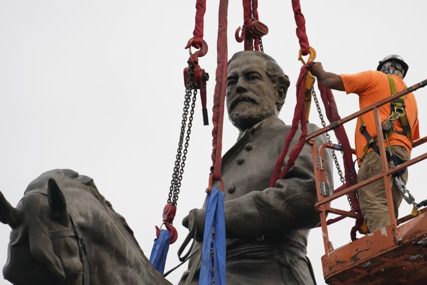
<instances>
[{"instance_id":1,"label":"bronze horse's head with dark ears and bridle, excluding the neck","mask_svg":"<svg viewBox=\"0 0 427 285\"><path fill-rule=\"evenodd\" d=\"M78 237L54 178L26 191L16 208L0 193L0 221L12 228L4 277L15 285L74 284L82 278Z\"/></svg>"}]
</instances>

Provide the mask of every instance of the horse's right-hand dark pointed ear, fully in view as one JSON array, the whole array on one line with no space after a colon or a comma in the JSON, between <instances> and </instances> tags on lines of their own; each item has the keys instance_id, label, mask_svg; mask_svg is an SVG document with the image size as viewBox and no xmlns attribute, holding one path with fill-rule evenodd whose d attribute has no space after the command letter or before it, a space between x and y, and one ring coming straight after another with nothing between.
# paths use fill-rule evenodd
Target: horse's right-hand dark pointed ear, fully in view
<instances>
[{"instance_id":1,"label":"horse's right-hand dark pointed ear, fully in view","mask_svg":"<svg viewBox=\"0 0 427 285\"><path fill-rule=\"evenodd\" d=\"M47 201L52 218L67 226L70 223L70 216L67 211L67 202L61 189L53 178L47 182Z\"/></svg>"}]
</instances>

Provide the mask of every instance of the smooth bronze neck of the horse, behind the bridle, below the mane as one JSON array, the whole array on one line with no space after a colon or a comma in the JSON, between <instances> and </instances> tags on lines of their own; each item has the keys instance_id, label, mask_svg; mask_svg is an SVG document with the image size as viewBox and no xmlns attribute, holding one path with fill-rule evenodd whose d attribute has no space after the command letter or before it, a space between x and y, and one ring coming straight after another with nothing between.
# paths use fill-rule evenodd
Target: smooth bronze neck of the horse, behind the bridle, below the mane
<instances>
[{"instance_id":1,"label":"smooth bronze neck of the horse, behind the bridle, below the mane","mask_svg":"<svg viewBox=\"0 0 427 285\"><path fill-rule=\"evenodd\" d=\"M93 284L167 284L149 263L113 210L88 192L80 192L70 209L78 213Z\"/></svg>"}]
</instances>

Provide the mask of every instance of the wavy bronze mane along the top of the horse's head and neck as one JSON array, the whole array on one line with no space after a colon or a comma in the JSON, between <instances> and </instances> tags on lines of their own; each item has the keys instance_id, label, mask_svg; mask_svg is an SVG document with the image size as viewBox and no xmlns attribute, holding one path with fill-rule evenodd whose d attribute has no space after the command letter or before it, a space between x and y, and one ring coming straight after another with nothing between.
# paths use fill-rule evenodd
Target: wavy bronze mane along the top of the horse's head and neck
<instances>
[{"instance_id":1,"label":"wavy bronze mane along the top of the horse's head and neck","mask_svg":"<svg viewBox=\"0 0 427 285\"><path fill-rule=\"evenodd\" d=\"M59 187L65 186L65 187L76 187L82 190L85 190L91 194L93 194L97 200L106 208L109 208L114 215L119 219L121 224L125 227L126 231L129 233L131 238L134 240L138 248L141 250L141 247L139 246L137 240L135 239L134 233L131 229L131 227L126 222L125 218L118 214L116 211L114 211L111 203L105 199L105 197L99 192L97 186L95 185L95 182L92 178L80 175L78 172L75 172L71 169L53 169L49 170L43 174L41 174L38 178L34 179L32 182L30 182L25 189L24 194L27 194L33 190L36 189L47 189L47 181L49 178L53 178L58 182Z\"/></svg>"}]
</instances>

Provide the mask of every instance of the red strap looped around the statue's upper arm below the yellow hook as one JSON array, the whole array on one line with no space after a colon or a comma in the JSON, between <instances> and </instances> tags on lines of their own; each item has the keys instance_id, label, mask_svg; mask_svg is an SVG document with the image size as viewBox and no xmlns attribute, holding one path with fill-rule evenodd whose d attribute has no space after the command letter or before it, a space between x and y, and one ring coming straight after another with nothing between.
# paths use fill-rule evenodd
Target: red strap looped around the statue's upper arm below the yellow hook
<instances>
[{"instance_id":1,"label":"red strap looped around the statue's upper arm below the yellow hook","mask_svg":"<svg viewBox=\"0 0 427 285\"><path fill-rule=\"evenodd\" d=\"M313 64L311 62L311 64ZM301 152L304 144L306 144L306 136L307 136L307 119L306 119L306 107L304 104L304 96L306 94L306 80L307 80L307 72L310 70L311 64L304 64L301 67L298 81L296 83L296 105L294 111L294 118L292 120L292 127L286 136L285 143L283 146L282 153L279 155L275 170L270 179L270 187L274 187L276 181L282 179L289 171L289 169L294 165L295 160L297 159L299 153ZM289 154L289 159L286 162L285 167L282 169L282 165L285 163L286 154L289 151L289 147L291 145L291 141L295 136L295 133L298 129L298 125L301 123L301 135L299 136L298 143L291 150Z\"/></svg>"}]
</instances>

